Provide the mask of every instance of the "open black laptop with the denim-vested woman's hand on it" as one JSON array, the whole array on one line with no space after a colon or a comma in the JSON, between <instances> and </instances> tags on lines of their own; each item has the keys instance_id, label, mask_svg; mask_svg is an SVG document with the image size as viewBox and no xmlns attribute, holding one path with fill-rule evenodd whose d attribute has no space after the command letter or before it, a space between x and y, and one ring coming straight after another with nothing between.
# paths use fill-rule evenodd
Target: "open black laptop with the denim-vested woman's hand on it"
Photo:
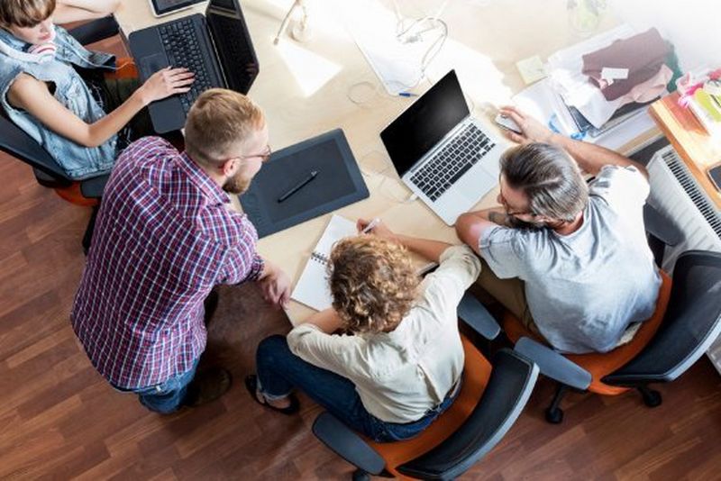
<instances>
[{"instance_id":1,"label":"open black laptop with the denim-vested woman's hand on it","mask_svg":"<svg viewBox=\"0 0 721 481\"><path fill-rule=\"evenodd\" d=\"M208 88L247 94L258 75L258 58L238 0L211 0L201 14L132 32L128 37L141 81L160 68L186 67L196 81L186 94L148 106L155 132L183 128L187 111Z\"/></svg>"}]
</instances>

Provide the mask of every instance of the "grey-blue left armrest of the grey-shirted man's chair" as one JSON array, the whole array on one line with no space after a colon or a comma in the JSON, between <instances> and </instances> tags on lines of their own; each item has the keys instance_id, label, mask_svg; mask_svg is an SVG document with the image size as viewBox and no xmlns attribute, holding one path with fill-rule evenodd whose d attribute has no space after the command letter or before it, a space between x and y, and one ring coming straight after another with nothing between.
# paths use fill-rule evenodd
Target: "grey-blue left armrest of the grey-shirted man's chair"
<instances>
[{"instance_id":1,"label":"grey-blue left armrest of the grey-shirted man's chair","mask_svg":"<svg viewBox=\"0 0 721 481\"><path fill-rule=\"evenodd\" d=\"M521 338L516 342L514 350L534 361L546 377L580 390L588 389L591 384L589 371L540 342Z\"/></svg>"}]
</instances>

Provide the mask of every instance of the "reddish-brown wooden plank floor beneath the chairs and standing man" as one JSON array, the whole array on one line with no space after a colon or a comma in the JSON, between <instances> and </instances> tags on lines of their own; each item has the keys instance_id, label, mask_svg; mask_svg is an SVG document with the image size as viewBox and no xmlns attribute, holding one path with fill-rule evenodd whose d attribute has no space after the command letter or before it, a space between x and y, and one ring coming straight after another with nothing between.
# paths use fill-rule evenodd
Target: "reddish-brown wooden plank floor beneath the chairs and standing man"
<instances>
[{"instance_id":1,"label":"reddish-brown wooden plank floor beneath the chairs and standing man","mask_svg":"<svg viewBox=\"0 0 721 481\"><path fill-rule=\"evenodd\" d=\"M37 185L0 155L0 479L339 479L351 467L310 432L320 409L301 396L287 417L251 401L262 337L288 329L254 286L224 287L209 351L230 368L220 401L170 416L115 392L90 365L68 320L89 210ZM561 425L543 420L543 379L506 438L466 479L720 479L721 377L702 358L661 386L663 404L634 393L570 395Z\"/></svg>"}]
</instances>

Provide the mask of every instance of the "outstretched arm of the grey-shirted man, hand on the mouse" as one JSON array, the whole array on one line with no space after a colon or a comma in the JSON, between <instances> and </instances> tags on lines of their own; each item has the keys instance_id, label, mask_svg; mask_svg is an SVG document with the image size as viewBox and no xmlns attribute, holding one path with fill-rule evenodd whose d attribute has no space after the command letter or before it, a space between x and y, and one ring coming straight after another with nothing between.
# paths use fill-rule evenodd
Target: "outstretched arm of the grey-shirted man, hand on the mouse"
<instances>
[{"instance_id":1,"label":"outstretched arm of the grey-shirted man, hand on the mouse","mask_svg":"<svg viewBox=\"0 0 721 481\"><path fill-rule=\"evenodd\" d=\"M614 165L620 167L633 166L648 178L646 168L618 152L589 142L575 141L565 135L551 132L542 123L515 107L503 107L501 112L510 116L521 128L522 133L520 134L511 131L506 132L507 137L512 141L518 143L543 142L557 145L566 150L582 170L593 176L597 175L602 167Z\"/></svg>"}]
</instances>

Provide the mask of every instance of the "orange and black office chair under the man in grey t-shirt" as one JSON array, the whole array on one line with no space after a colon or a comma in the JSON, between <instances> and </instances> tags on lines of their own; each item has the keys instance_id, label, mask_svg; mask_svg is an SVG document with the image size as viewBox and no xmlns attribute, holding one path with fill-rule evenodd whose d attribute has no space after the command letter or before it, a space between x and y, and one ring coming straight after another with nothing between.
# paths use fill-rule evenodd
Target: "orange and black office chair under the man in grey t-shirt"
<instances>
[{"instance_id":1,"label":"orange and black office chair under the man in grey t-shirt","mask_svg":"<svg viewBox=\"0 0 721 481\"><path fill-rule=\"evenodd\" d=\"M651 383L679 377L703 355L721 333L721 253L689 250L676 262L673 285L664 274L656 313L634 340L610 352L561 355L533 340L512 316L504 321L516 350L534 360L541 372L559 383L546 420L559 423L559 405L570 387L600 395L619 395L636 388L649 407L662 404Z\"/></svg>"}]
</instances>

